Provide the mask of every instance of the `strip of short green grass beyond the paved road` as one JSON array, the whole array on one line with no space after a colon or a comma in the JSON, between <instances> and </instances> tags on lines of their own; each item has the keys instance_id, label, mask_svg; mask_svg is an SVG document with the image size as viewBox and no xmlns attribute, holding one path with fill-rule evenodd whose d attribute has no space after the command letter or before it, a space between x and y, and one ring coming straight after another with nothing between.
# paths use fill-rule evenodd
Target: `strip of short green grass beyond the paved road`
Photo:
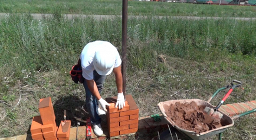
<instances>
[{"instance_id":1,"label":"strip of short green grass beyond the paved road","mask_svg":"<svg viewBox=\"0 0 256 140\"><path fill-rule=\"evenodd\" d=\"M122 15L122 0L2 0L0 12ZM256 17L256 6L128 2L129 15Z\"/></svg>"}]
</instances>

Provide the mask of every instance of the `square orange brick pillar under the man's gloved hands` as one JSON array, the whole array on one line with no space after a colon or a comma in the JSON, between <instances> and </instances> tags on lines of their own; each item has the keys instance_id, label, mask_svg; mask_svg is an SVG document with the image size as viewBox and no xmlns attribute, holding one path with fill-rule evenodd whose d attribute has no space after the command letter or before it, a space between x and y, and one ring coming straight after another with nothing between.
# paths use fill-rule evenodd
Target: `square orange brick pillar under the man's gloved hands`
<instances>
[{"instance_id":1,"label":"square orange brick pillar under the man's gloved hands","mask_svg":"<svg viewBox=\"0 0 256 140\"><path fill-rule=\"evenodd\" d=\"M123 109L115 108L117 97L106 98L111 105L107 107L107 126L109 136L118 136L137 132L139 124L139 108L132 95L126 95L126 105Z\"/></svg>"}]
</instances>

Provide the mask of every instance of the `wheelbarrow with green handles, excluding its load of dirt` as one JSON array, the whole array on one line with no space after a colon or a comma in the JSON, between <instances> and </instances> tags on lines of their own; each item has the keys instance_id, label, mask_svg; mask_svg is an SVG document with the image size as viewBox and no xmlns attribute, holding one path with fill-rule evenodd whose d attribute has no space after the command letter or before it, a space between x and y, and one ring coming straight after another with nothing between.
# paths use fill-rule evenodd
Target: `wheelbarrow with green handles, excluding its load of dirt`
<instances>
[{"instance_id":1,"label":"wheelbarrow with green handles, excluding its load of dirt","mask_svg":"<svg viewBox=\"0 0 256 140\"><path fill-rule=\"evenodd\" d=\"M237 82L236 80L233 80L233 81ZM239 85L234 85L233 81L231 84L232 84L232 88L234 89L234 87L238 87ZM240 85L241 85L241 83L240 83ZM251 111L244 112L243 114L239 114L239 115L232 116L232 117L224 114L224 112L222 112L222 111L219 111L219 112L221 112L221 114L223 114L223 116L221 118L222 126L219 128L211 129L206 132L201 132L199 134L196 134L196 132L188 131L186 129L182 129L179 126L177 126L175 124L175 122L173 122L172 119L168 118L168 116L166 115L164 106L166 106L166 105L170 106L171 104L175 104L176 102L179 102L180 104L184 104L184 103L190 104L192 101L194 101L194 102L196 102L196 104L198 106L202 106L203 108L205 108L206 106L208 106L209 108L215 108L215 106L210 104L209 102L211 101L212 98L214 98L214 96L216 96L218 94L219 91L222 91L227 88L229 88L229 85L225 86L223 88L219 88L214 93L214 95L212 95L211 98L208 99L208 101L203 101L201 99L180 99L180 100L170 100L170 101L165 101L165 102L159 102L159 104L157 104L157 106L159 106L160 112L162 112L163 116L165 116L166 121L168 121L170 123L170 125L173 126L173 128L177 129L180 134L184 135L186 139L201 140L201 139L206 139L206 138L209 138L210 136L217 135L217 134L219 135L219 139L221 139L222 132L224 132L226 129L228 129L229 127L234 125L234 119L237 119L237 118L247 115L247 114L251 114L252 112L256 112L256 109L252 109ZM168 134L168 133L166 133L166 131L165 131L165 134ZM170 132L168 135L170 135ZM175 137L175 136L169 136L168 139L172 139L173 137ZM160 136L159 136L159 138L160 138ZM165 136L165 138L166 138L166 136Z\"/></svg>"}]
</instances>

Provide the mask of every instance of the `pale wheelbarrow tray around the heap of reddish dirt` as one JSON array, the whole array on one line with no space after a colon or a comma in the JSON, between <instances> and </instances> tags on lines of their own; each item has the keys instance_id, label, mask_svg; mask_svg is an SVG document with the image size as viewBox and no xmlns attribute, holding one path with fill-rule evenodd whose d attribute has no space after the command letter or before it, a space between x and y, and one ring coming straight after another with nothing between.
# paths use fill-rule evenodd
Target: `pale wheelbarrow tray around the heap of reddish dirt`
<instances>
[{"instance_id":1,"label":"pale wheelbarrow tray around the heap of reddish dirt","mask_svg":"<svg viewBox=\"0 0 256 140\"><path fill-rule=\"evenodd\" d=\"M176 102L180 102L180 104L184 104L184 103L190 104L192 101L196 102L196 104L198 106L202 106L204 108L206 106L208 106L210 108L214 108L214 106L211 105L209 102L203 101L201 99L170 100L170 101L165 101L165 102L159 102L159 104L157 104L157 106L159 106L159 109L162 112L162 114L165 116L166 121L168 121L174 128L178 129L179 132L189 136L191 139L194 139L194 140L209 138L212 135L216 135L216 134L219 134L221 132L224 132L227 128L234 125L234 121L230 116L228 116L228 115L224 114L223 112L219 111L223 114L222 120L225 122L225 125L220 127L220 128L216 128L216 129L212 129L210 131L206 131L206 132L202 132L200 134L196 134L196 132L188 131L186 129L180 128L179 126L177 126L175 124L175 122L172 121L172 119L169 119L168 116L166 115L166 111L165 111L165 108L164 108L165 105L170 106L170 104L175 104Z\"/></svg>"}]
</instances>

